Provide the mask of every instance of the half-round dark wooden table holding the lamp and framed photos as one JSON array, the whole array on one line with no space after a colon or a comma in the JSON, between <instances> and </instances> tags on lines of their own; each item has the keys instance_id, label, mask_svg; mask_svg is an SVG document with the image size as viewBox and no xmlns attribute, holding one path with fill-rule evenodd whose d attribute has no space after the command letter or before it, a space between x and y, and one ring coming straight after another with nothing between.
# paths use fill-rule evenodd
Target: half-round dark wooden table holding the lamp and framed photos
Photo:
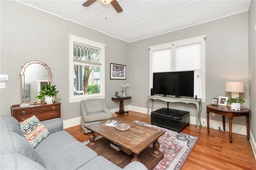
<instances>
[{"instance_id":1,"label":"half-round dark wooden table holding the lamp and framed photos","mask_svg":"<svg viewBox=\"0 0 256 170\"><path fill-rule=\"evenodd\" d=\"M207 113L207 132L210 133L209 128L209 113L216 113L222 115L222 123L223 123L223 130L225 131L225 116L229 119L229 142L232 143L232 119L233 117L238 116L246 116L246 129L247 129L247 140L250 140L250 129L249 129L249 115L250 109L244 108L240 111L235 111L230 109L230 107L226 106L215 106L215 105L207 105L206 106L206 113Z\"/></svg>"}]
</instances>

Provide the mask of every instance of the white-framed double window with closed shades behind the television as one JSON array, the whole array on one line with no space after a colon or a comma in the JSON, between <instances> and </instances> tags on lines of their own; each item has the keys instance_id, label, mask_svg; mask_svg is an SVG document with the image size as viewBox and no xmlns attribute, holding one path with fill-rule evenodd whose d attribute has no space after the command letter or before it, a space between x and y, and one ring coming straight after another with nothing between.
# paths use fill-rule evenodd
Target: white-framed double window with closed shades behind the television
<instances>
[{"instance_id":1,"label":"white-framed double window with closed shades behind the television","mask_svg":"<svg viewBox=\"0 0 256 170\"><path fill-rule=\"evenodd\" d=\"M194 97L205 102L205 38L206 35L149 47L150 88L153 73L194 70Z\"/></svg>"}]
</instances>

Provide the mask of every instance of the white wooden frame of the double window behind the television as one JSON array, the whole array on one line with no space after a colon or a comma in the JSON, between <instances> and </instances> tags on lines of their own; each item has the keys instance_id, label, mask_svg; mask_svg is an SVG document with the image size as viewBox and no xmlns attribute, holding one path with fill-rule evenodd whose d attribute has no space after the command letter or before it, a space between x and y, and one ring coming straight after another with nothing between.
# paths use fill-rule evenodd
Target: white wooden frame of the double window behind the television
<instances>
[{"instance_id":1,"label":"white wooden frame of the double window behind the television","mask_svg":"<svg viewBox=\"0 0 256 170\"><path fill-rule=\"evenodd\" d=\"M150 89L153 87L153 51L156 50L161 50L161 49L167 49L171 48L171 56L172 56L172 65L171 65L171 71L176 71L176 47L182 46L182 45L190 45L194 43L201 43L201 99L202 102L206 102L206 82L205 82L205 39L206 35L203 36L198 36L198 37L193 37L193 38L188 38L184 40L179 40L175 42L169 42L169 43L164 43L164 44L159 44L159 45L154 45L148 47L150 50L149 57L150 57L150 71L149 71L149 80L150 80ZM150 92L149 92L150 93Z\"/></svg>"}]
</instances>

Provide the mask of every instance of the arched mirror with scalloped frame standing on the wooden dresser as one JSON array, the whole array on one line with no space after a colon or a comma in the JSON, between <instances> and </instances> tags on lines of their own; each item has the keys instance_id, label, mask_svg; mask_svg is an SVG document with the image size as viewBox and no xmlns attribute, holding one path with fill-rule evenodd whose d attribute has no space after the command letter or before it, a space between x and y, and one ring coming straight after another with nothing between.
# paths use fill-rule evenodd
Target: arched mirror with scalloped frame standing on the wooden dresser
<instances>
[{"instance_id":1,"label":"arched mirror with scalloped frame standing on the wooden dresser","mask_svg":"<svg viewBox=\"0 0 256 170\"><path fill-rule=\"evenodd\" d=\"M41 61L27 62L21 68L21 104L37 102L36 96L41 87L51 83L51 70Z\"/></svg>"}]
</instances>

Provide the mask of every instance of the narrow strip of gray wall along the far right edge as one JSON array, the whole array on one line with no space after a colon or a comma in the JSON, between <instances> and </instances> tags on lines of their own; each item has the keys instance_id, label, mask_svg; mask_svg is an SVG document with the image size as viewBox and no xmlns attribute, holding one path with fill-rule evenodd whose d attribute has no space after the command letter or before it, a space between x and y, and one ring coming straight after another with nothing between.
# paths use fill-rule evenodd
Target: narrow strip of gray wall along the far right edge
<instances>
[{"instance_id":1,"label":"narrow strip of gray wall along the far right edge","mask_svg":"<svg viewBox=\"0 0 256 170\"><path fill-rule=\"evenodd\" d=\"M256 0L252 0L249 8L249 92L250 92L250 129L256 136ZM255 140L255 139L254 139Z\"/></svg>"}]
</instances>

